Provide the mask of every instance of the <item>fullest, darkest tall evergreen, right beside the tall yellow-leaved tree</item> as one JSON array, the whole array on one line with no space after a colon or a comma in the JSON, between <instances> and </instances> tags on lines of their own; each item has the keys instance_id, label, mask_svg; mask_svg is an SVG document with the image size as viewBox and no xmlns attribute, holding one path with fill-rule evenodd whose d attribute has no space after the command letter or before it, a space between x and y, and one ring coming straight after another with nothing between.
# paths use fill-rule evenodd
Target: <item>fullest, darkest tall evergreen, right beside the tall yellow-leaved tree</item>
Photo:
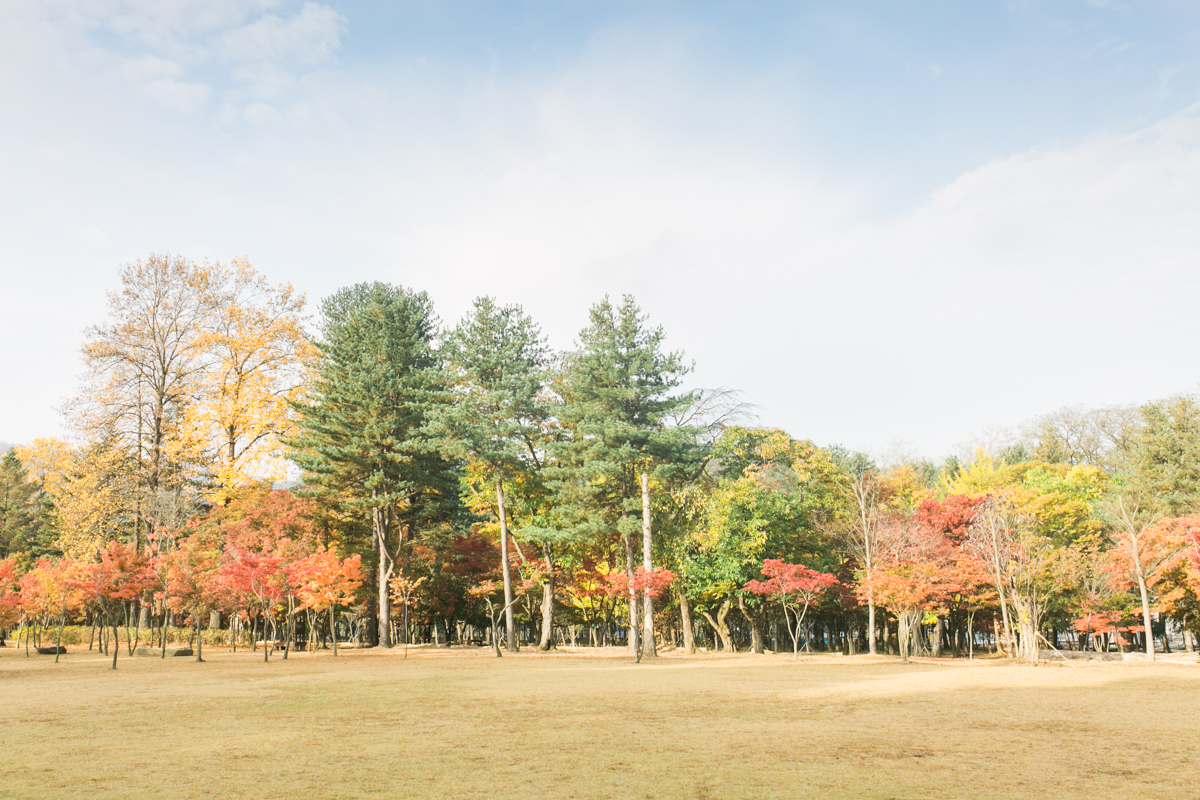
<instances>
[{"instance_id":1,"label":"fullest, darkest tall evergreen, right beside the tall yellow-leaved tree","mask_svg":"<svg viewBox=\"0 0 1200 800\"><path fill-rule=\"evenodd\" d=\"M385 283L342 289L320 311L320 367L288 444L310 491L370 522L378 643L390 648L388 584L406 537L444 521L457 500L454 467L426 431L445 401L437 318L424 291Z\"/></svg>"}]
</instances>

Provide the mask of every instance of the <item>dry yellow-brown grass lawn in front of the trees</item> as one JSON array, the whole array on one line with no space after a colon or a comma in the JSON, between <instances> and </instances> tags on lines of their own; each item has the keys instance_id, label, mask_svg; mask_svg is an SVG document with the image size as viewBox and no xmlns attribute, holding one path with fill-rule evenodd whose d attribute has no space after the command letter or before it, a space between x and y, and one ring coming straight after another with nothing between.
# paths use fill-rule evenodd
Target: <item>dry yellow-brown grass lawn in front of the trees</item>
<instances>
[{"instance_id":1,"label":"dry yellow-brown grass lawn in front of the trees","mask_svg":"<svg viewBox=\"0 0 1200 800\"><path fill-rule=\"evenodd\" d=\"M1200 666L0 650L2 798L1190 798Z\"/></svg>"}]
</instances>

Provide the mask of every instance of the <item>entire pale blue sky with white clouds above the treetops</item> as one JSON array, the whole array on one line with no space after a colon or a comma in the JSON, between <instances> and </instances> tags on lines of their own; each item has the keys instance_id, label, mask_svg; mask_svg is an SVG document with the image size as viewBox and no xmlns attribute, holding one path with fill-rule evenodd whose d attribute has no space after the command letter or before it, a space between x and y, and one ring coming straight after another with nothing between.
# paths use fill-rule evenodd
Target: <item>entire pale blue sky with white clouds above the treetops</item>
<instances>
[{"instance_id":1,"label":"entire pale blue sky with white clouds above the treetops","mask_svg":"<svg viewBox=\"0 0 1200 800\"><path fill-rule=\"evenodd\" d=\"M1200 381L1200 5L0 4L0 440L122 264L632 294L756 422L934 458Z\"/></svg>"}]
</instances>

